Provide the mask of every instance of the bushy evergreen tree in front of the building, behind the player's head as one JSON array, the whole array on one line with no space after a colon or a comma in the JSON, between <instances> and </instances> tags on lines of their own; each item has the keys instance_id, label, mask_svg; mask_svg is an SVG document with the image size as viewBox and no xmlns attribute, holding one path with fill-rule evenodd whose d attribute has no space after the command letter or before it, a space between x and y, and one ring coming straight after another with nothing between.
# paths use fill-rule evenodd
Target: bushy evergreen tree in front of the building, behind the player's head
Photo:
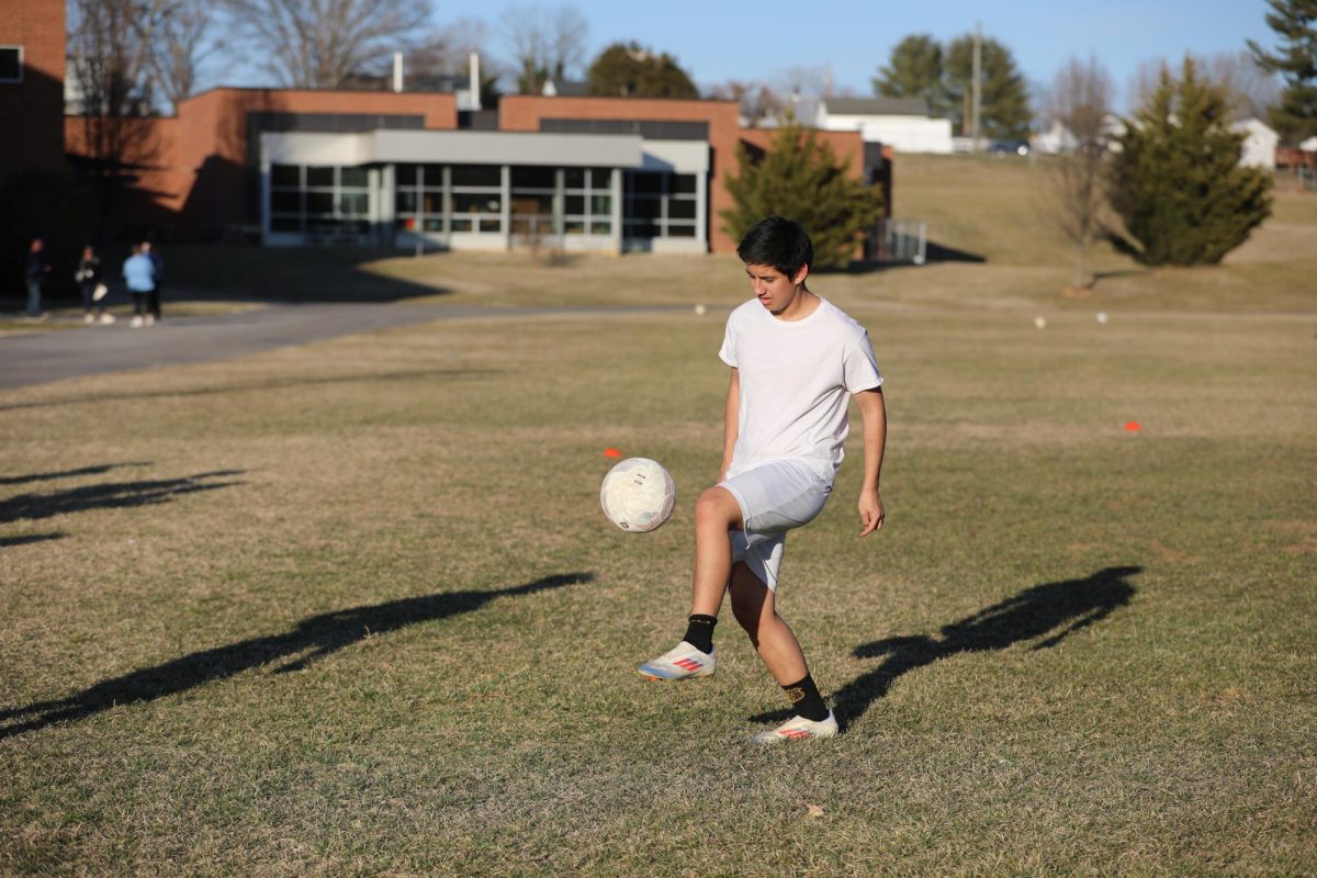
<instances>
[{"instance_id":1,"label":"bushy evergreen tree in front of the building, behind the player's head","mask_svg":"<svg viewBox=\"0 0 1317 878\"><path fill-rule=\"evenodd\" d=\"M818 267L849 265L861 236L882 216L882 192L849 174L849 162L819 141L814 129L778 129L759 161L744 145L739 171L727 180L735 207L723 211L723 232L735 240L773 213L795 220L814 241Z\"/></svg>"}]
</instances>

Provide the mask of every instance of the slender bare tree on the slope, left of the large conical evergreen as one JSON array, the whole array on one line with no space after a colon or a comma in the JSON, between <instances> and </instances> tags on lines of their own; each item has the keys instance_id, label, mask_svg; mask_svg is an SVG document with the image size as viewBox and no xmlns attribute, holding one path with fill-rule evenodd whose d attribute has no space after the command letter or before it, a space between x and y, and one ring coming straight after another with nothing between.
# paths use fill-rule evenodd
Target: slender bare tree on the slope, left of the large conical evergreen
<instances>
[{"instance_id":1,"label":"slender bare tree on the slope, left of the large conical evergreen","mask_svg":"<svg viewBox=\"0 0 1317 878\"><path fill-rule=\"evenodd\" d=\"M1058 155L1050 167L1046 197L1062 234L1075 245L1075 286L1093 286L1088 251L1110 228L1105 159L1106 116L1112 80L1106 68L1089 57L1071 58L1056 74L1047 97L1047 113L1075 138L1075 150Z\"/></svg>"}]
</instances>

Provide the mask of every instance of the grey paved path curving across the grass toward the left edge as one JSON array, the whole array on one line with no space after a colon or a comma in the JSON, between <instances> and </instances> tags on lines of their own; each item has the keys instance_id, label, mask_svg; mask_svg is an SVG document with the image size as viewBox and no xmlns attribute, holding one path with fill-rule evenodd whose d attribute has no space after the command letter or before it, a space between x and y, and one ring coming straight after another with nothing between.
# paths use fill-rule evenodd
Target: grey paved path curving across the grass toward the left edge
<instances>
[{"instance_id":1,"label":"grey paved path curving across the grass toward the left edge","mask_svg":"<svg viewBox=\"0 0 1317 878\"><path fill-rule=\"evenodd\" d=\"M129 369L241 357L271 348L431 320L666 309L308 304L271 305L217 317L170 317L142 329L132 329L126 320L120 320L109 326L0 337L0 390Z\"/></svg>"}]
</instances>

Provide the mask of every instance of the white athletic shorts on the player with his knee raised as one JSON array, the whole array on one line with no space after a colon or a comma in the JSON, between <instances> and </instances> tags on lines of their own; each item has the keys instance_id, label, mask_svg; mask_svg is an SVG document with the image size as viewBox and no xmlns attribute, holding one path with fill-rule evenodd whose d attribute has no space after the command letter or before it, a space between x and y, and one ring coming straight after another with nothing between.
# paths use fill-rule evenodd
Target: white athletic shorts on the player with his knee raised
<instances>
[{"instance_id":1,"label":"white athletic shorts on the player with his knee raised","mask_svg":"<svg viewBox=\"0 0 1317 878\"><path fill-rule=\"evenodd\" d=\"M770 461L728 477L726 488L741 508L743 530L734 530L732 563L744 561L751 573L777 591L786 532L823 511L832 486L797 461Z\"/></svg>"}]
</instances>

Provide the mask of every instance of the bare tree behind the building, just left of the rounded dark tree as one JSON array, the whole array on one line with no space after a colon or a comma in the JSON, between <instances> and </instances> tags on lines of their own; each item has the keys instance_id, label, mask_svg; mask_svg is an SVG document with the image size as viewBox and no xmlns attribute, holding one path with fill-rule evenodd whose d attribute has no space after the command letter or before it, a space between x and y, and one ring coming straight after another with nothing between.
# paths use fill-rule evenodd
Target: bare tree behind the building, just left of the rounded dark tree
<instances>
[{"instance_id":1,"label":"bare tree behind the building, just left of the rounded dark tree","mask_svg":"<svg viewBox=\"0 0 1317 878\"><path fill-rule=\"evenodd\" d=\"M523 95L537 95L548 80L562 82L585 67L590 24L573 7L508 9L502 29Z\"/></svg>"}]
</instances>

